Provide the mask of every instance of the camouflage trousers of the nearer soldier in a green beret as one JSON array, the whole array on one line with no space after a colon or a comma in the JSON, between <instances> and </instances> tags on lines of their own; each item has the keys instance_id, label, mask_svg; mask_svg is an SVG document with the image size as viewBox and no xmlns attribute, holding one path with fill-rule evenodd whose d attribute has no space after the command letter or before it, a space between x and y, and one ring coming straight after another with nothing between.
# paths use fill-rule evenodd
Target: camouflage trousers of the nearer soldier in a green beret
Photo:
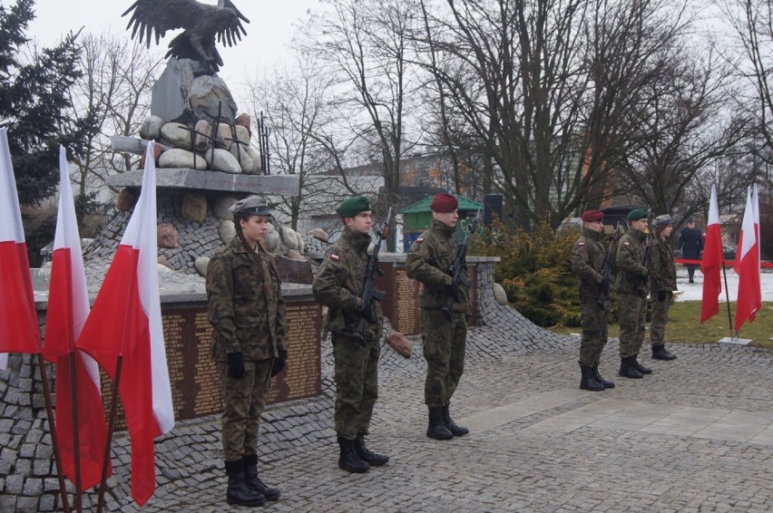
<instances>
[{"instance_id":1,"label":"camouflage trousers of the nearer soldier in a green beret","mask_svg":"<svg viewBox=\"0 0 773 513\"><path fill-rule=\"evenodd\" d=\"M367 434L378 399L378 345L380 337L365 347L341 334L330 334L336 379L336 432L347 440Z\"/></svg>"}]
</instances>

